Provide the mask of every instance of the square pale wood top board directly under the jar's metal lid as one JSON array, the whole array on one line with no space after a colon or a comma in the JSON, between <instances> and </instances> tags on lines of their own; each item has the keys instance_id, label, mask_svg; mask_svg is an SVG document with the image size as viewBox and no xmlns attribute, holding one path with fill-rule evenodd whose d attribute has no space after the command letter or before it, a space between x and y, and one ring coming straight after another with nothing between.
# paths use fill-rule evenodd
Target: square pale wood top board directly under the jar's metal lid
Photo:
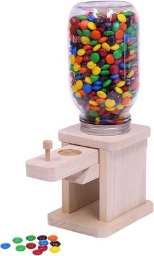
<instances>
[{"instance_id":1,"label":"square pale wood top board directly under the jar's metal lid","mask_svg":"<svg viewBox=\"0 0 154 256\"><path fill-rule=\"evenodd\" d=\"M59 131L59 140L70 144L102 148L104 150L119 150L147 139L150 136L150 127L131 124L131 131L123 135L97 136L80 131L80 124L72 125Z\"/></svg>"}]
</instances>

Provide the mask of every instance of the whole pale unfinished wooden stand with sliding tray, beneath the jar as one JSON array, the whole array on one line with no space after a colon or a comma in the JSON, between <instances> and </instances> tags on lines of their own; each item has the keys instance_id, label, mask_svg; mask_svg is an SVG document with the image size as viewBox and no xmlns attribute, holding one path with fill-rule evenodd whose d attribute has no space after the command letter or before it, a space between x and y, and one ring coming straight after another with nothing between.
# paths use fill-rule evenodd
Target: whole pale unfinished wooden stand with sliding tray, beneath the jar
<instances>
[{"instance_id":1,"label":"whole pale unfinished wooden stand with sliding tray, beneath the jar","mask_svg":"<svg viewBox=\"0 0 154 256\"><path fill-rule=\"evenodd\" d=\"M62 208L48 214L48 223L106 237L152 213L146 200L149 136L149 127L134 124L117 136L88 135L79 124L59 131L63 148L51 152L50 162L39 156L26 163L29 177L63 180Z\"/></svg>"}]
</instances>

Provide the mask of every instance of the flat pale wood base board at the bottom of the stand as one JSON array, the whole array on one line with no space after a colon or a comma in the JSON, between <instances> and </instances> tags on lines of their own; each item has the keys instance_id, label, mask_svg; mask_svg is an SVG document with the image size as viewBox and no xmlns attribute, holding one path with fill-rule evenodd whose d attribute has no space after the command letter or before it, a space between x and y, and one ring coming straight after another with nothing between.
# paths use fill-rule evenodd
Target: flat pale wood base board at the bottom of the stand
<instances>
[{"instance_id":1,"label":"flat pale wood base board at the bottom of the stand","mask_svg":"<svg viewBox=\"0 0 154 256\"><path fill-rule=\"evenodd\" d=\"M105 238L152 212L153 202L146 200L142 205L105 223L99 221L99 200L97 200L69 214L63 213L62 208L57 209L48 214L48 224L97 238Z\"/></svg>"}]
</instances>

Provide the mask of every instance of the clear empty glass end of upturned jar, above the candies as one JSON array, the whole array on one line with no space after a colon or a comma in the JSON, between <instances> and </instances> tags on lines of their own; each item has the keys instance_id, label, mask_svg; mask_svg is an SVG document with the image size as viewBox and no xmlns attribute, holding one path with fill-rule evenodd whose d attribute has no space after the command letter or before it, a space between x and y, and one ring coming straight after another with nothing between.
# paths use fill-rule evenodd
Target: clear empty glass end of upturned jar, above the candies
<instances>
[{"instance_id":1,"label":"clear empty glass end of upturned jar, above the candies","mask_svg":"<svg viewBox=\"0 0 154 256\"><path fill-rule=\"evenodd\" d=\"M77 3L74 8L84 9L87 11L93 11L95 9L103 9L103 11L108 11L108 9L118 9L119 11L123 9L133 9L133 5L127 1L86 1Z\"/></svg>"}]
</instances>

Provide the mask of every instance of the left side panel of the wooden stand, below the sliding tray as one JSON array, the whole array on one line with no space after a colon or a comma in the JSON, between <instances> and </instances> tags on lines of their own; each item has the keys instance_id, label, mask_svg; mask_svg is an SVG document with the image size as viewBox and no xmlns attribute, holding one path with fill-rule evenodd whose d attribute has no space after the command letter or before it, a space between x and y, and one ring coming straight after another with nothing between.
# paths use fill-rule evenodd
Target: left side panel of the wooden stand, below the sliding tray
<instances>
[{"instance_id":1,"label":"left side panel of the wooden stand, below the sliding tray","mask_svg":"<svg viewBox=\"0 0 154 256\"><path fill-rule=\"evenodd\" d=\"M99 199L99 179L86 184L76 184L63 180L63 213L72 213Z\"/></svg>"}]
</instances>

